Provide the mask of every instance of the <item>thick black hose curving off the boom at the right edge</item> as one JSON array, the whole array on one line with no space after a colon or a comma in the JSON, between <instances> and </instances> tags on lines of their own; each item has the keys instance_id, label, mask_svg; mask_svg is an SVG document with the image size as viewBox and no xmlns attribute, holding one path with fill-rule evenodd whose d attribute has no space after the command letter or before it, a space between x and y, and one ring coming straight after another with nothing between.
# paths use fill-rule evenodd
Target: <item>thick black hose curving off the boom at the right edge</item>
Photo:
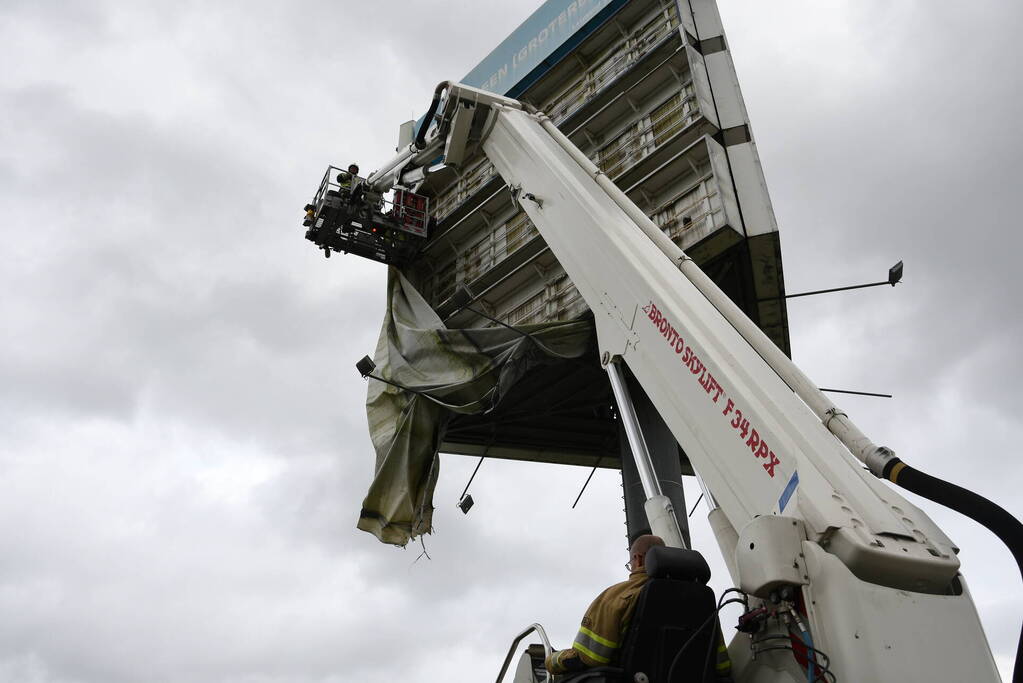
<instances>
[{"instance_id":1,"label":"thick black hose curving off the boom at the right edge","mask_svg":"<svg viewBox=\"0 0 1023 683\"><path fill-rule=\"evenodd\" d=\"M898 458L885 463L882 476L928 500L962 512L986 527L1009 547L1019 565L1020 575L1023 576L1023 523L1000 506L973 491L910 467ZM1013 683L1023 683L1023 629L1016 646Z\"/></svg>"}]
</instances>

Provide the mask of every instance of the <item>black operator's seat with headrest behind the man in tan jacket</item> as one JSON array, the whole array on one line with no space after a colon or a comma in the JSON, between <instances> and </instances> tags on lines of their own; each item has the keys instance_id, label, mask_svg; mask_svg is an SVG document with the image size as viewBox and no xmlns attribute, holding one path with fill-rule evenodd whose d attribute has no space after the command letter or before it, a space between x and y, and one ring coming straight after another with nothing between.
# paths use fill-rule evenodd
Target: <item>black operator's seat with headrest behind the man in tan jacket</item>
<instances>
[{"instance_id":1,"label":"black operator's seat with headrest behind the man in tan jacket","mask_svg":"<svg viewBox=\"0 0 1023 683\"><path fill-rule=\"evenodd\" d=\"M715 683L720 625L710 567L696 550L656 547L622 644L619 667L599 667L561 679L566 683ZM672 669L672 667L674 667ZM669 680L669 672L671 678ZM641 679L640 679L641 680Z\"/></svg>"}]
</instances>

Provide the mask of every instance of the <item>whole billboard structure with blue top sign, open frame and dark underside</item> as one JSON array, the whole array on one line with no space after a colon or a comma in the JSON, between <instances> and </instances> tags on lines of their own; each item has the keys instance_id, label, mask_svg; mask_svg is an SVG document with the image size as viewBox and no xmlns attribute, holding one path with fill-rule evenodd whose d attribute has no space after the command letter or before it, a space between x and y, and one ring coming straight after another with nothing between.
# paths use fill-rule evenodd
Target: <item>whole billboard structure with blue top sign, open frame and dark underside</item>
<instances>
[{"instance_id":1,"label":"whole billboard structure with blue top sign, open frame and dark underside","mask_svg":"<svg viewBox=\"0 0 1023 683\"><path fill-rule=\"evenodd\" d=\"M715 0L548 0L462 82L545 111L789 353L777 225ZM590 315L484 156L431 173L417 192L434 223L402 271L447 328ZM439 450L623 468L631 536L646 521L642 496L593 347L592 362L545 364L493 409L450 417ZM632 394L666 493L684 510L680 474L692 467L641 390Z\"/></svg>"}]
</instances>

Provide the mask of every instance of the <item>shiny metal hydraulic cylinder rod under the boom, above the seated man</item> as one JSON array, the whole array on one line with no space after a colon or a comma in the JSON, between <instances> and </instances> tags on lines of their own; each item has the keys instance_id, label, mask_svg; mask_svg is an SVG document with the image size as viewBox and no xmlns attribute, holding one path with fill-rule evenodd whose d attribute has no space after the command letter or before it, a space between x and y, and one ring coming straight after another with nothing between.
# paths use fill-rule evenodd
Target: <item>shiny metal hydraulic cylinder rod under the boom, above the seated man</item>
<instances>
[{"instance_id":1,"label":"shiny metal hydraulic cylinder rod under the boom, above the seated man","mask_svg":"<svg viewBox=\"0 0 1023 683\"><path fill-rule=\"evenodd\" d=\"M625 437L628 439L629 448L632 451L632 458L639 473L639 482L642 484L647 502L643 509L647 512L647 519L650 521L651 531L655 536L660 536L665 545L674 548L685 548L685 541L682 540L682 532L678 526L678 518L675 516L675 508L671 499L664 495L661 490L661 483L658 481L657 471L654 469L654 462L650 451L647 448L647 440L643 439L642 429L639 427L639 418L636 416L635 407L632 405L632 398L629 396L628 386L625 383L625 375L619 361L608 363L608 377L611 379L611 391L615 395L615 403L618 404L618 414L622 418L622 426L625 428Z\"/></svg>"}]
</instances>

